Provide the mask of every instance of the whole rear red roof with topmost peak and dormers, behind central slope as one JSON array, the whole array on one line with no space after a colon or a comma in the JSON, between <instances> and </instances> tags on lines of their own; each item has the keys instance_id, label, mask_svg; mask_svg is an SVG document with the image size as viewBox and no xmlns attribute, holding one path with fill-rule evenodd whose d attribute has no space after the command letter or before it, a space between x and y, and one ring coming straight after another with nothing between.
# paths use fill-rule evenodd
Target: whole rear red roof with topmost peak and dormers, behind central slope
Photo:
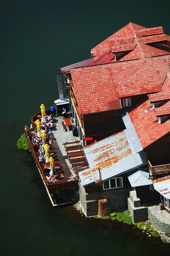
<instances>
[{"instance_id":1,"label":"whole rear red roof with topmost peak and dormers, behind central slope","mask_svg":"<svg viewBox=\"0 0 170 256\"><path fill-rule=\"evenodd\" d=\"M144 45L162 40L162 49L158 49L155 46ZM133 45L127 45L131 43L137 44L136 47L133 47ZM63 67L61 68L61 71L66 72L78 67L89 67L112 63L115 61L114 54L112 54L112 52L116 54L116 52L131 51L126 53L126 55L118 61L167 55L170 54L170 36L163 33L162 27L147 29L130 22L105 41L98 44L91 51L93 52L93 58Z\"/></svg>"}]
</instances>

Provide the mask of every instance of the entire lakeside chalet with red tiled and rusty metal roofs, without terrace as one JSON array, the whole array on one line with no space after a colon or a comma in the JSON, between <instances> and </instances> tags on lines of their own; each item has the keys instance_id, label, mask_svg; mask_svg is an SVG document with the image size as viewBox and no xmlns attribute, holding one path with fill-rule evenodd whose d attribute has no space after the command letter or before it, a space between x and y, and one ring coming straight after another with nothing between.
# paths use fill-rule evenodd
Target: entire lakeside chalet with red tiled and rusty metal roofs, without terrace
<instances>
[{"instance_id":1,"label":"entire lakeside chalet with red tiled and rusty metal roofs, without terrace","mask_svg":"<svg viewBox=\"0 0 170 256\"><path fill-rule=\"evenodd\" d=\"M89 165L79 172L85 215L104 198L134 222L154 201L170 213L170 36L129 23L61 72Z\"/></svg>"}]
</instances>

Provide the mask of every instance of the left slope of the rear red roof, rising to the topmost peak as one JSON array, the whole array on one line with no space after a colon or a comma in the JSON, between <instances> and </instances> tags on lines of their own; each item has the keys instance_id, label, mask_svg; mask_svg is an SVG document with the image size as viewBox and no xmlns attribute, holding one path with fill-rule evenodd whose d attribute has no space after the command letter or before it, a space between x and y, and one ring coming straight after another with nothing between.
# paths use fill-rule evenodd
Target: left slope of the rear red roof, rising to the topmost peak
<instances>
[{"instance_id":1,"label":"left slope of the rear red roof, rising to the topmost peak","mask_svg":"<svg viewBox=\"0 0 170 256\"><path fill-rule=\"evenodd\" d=\"M128 23L126 26L124 26L122 29L118 30L116 33L102 41L102 43L98 44L96 47L91 49L91 52L94 53L94 60L96 61L99 59L102 55L106 54L110 51L110 46L108 41L111 39L117 39L117 38L126 38L126 37L134 37L134 29L146 29L143 26L139 26L134 23Z\"/></svg>"}]
</instances>

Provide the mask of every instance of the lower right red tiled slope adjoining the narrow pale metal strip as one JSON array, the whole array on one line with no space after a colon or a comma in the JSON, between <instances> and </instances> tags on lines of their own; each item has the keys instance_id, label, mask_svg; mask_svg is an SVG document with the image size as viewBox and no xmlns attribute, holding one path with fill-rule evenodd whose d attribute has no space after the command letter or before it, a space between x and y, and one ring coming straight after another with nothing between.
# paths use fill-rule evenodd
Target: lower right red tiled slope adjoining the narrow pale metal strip
<instances>
[{"instance_id":1,"label":"lower right red tiled slope adjoining the narrow pale metal strip","mask_svg":"<svg viewBox=\"0 0 170 256\"><path fill-rule=\"evenodd\" d=\"M170 102L168 102L168 105L169 104ZM164 106L167 106L167 104ZM159 123L154 108L149 107L151 107L151 104L148 99L129 113L143 148L146 148L148 145L170 132L170 119L166 122Z\"/></svg>"}]
</instances>

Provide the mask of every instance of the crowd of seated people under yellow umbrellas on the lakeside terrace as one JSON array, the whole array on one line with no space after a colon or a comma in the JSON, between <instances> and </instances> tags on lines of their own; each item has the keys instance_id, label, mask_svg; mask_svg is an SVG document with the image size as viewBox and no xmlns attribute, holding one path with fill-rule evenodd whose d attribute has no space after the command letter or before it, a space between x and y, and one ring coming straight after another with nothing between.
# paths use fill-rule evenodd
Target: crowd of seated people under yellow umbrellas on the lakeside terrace
<instances>
[{"instance_id":1,"label":"crowd of seated people under yellow umbrellas on the lakeside terrace","mask_svg":"<svg viewBox=\"0 0 170 256\"><path fill-rule=\"evenodd\" d=\"M37 118L40 119L41 116L37 116ZM40 124L41 125L41 134L42 134L42 132L45 132L45 134L46 134L45 143L49 145L49 150L50 150L50 149L52 149L52 131L51 130L54 128L53 116L45 115L45 119L46 119L46 121ZM33 148L34 148L34 151L40 152L39 162L44 163L46 155L45 155L45 148L42 144L42 137L38 137L36 128L33 129L33 128L28 128L28 126L26 126L25 131L28 134L28 137L31 141ZM56 155L54 154L54 152L51 152L49 154L49 157L55 157L55 156ZM54 165L53 169L51 169L51 166L49 165L49 163L46 163L44 167L42 166L42 169L43 169L43 172L45 174L45 177L46 177L48 183L56 183L62 177L64 178L64 175L62 173L59 173L62 169L62 167L59 165Z\"/></svg>"}]
</instances>

